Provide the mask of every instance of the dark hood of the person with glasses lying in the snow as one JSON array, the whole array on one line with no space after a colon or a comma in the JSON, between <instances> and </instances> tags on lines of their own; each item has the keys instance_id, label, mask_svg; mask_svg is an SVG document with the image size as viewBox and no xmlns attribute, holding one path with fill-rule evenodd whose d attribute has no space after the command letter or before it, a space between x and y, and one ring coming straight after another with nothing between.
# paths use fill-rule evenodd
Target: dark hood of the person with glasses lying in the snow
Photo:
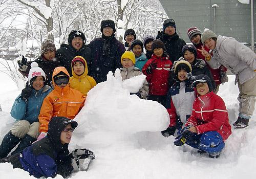
<instances>
[{"instance_id":1,"label":"dark hood of the person with glasses lying in the snow","mask_svg":"<svg viewBox=\"0 0 256 179\"><path fill-rule=\"evenodd\" d=\"M60 134L62 130L71 124L73 128L77 127L77 122L66 117L53 117L49 122L49 129L47 132L48 138L54 142L58 149L60 149L63 145L60 142Z\"/></svg>"}]
</instances>

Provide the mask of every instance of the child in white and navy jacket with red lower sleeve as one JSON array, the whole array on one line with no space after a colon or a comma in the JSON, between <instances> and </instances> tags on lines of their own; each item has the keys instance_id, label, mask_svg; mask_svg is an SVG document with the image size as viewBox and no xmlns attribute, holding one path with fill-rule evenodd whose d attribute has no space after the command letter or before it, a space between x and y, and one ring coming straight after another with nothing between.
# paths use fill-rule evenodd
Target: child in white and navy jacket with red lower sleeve
<instances>
[{"instance_id":1,"label":"child in white and navy jacket with red lower sleeve","mask_svg":"<svg viewBox=\"0 0 256 179\"><path fill-rule=\"evenodd\" d=\"M180 130L183 123L187 122L196 99L194 88L191 86L193 80L187 78L192 67L186 60L174 62L175 83L169 88L165 108L170 117L170 124L162 131L164 137L174 135L176 129Z\"/></svg>"}]
</instances>

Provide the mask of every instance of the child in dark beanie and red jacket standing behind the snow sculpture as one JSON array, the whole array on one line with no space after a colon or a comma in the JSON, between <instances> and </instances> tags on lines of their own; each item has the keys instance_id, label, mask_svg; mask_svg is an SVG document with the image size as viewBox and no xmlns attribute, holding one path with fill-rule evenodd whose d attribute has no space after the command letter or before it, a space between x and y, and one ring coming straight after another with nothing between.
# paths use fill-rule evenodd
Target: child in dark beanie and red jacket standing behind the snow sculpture
<instances>
[{"instance_id":1,"label":"child in dark beanie and red jacket standing behind the snow sculpture","mask_svg":"<svg viewBox=\"0 0 256 179\"><path fill-rule=\"evenodd\" d=\"M142 68L149 86L147 99L157 101L164 106L169 88L168 78L173 63L169 60L161 40L154 40L151 49L153 55Z\"/></svg>"}]
</instances>

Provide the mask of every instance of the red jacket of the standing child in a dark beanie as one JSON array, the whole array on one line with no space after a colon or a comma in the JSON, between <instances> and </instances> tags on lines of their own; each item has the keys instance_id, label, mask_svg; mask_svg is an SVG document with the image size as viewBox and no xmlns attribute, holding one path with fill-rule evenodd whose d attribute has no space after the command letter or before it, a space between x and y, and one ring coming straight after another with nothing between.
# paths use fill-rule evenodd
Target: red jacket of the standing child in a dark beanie
<instances>
[{"instance_id":1,"label":"red jacket of the standing child in a dark beanie","mask_svg":"<svg viewBox=\"0 0 256 179\"><path fill-rule=\"evenodd\" d=\"M152 74L147 74L146 69L152 61L157 62L157 68L152 71ZM168 78L172 65L173 63L169 60L169 57L157 57L153 54L151 59L147 60L142 68L142 72L146 75L146 80L149 86L149 95L164 96L167 94Z\"/></svg>"}]
</instances>

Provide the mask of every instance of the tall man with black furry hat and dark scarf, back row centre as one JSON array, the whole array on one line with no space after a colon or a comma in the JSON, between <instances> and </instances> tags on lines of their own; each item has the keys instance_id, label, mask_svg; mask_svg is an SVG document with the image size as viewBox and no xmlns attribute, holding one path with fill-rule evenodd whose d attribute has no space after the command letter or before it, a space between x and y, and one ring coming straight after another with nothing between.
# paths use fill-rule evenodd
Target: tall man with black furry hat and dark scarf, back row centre
<instances>
[{"instance_id":1,"label":"tall man with black furry hat and dark scarf, back row centre","mask_svg":"<svg viewBox=\"0 0 256 179\"><path fill-rule=\"evenodd\" d=\"M113 20L102 20L101 37L91 41L92 63L89 75L97 83L105 81L109 71L115 72L121 68L121 56L125 51L123 44L115 37L115 23Z\"/></svg>"}]
</instances>

